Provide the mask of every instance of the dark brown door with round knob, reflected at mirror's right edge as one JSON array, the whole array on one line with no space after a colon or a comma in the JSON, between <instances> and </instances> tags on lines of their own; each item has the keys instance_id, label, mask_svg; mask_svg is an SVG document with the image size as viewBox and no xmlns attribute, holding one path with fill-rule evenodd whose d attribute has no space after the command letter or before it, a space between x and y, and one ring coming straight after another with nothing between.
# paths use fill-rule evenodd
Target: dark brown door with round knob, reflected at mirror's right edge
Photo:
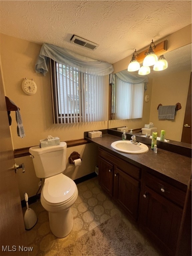
<instances>
[{"instance_id":1,"label":"dark brown door with round knob, reflected at mirror's right edge","mask_svg":"<svg viewBox=\"0 0 192 256\"><path fill-rule=\"evenodd\" d=\"M191 144L191 134L192 134L192 130L191 130L191 77L190 77L181 142Z\"/></svg>"}]
</instances>

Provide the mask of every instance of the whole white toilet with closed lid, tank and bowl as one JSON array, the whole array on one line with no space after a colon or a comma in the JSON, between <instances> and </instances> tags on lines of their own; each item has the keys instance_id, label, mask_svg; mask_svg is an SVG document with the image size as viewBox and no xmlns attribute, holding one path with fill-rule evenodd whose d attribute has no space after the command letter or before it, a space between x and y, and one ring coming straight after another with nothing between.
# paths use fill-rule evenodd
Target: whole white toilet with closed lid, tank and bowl
<instances>
[{"instance_id":1,"label":"whole white toilet with closed lid, tank and bowl","mask_svg":"<svg viewBox=\"0 0 192 256\"><path fill-rule=\"evenodd\" d=\"M49 213L52 233L59 238L67 236L73 228L71 206L78 196L75 182L62 173L66 168L66 150L66 142L52 147L35 146L29 149L36 176L45 178L41 204Z\"/></svg>"}]
</instances>

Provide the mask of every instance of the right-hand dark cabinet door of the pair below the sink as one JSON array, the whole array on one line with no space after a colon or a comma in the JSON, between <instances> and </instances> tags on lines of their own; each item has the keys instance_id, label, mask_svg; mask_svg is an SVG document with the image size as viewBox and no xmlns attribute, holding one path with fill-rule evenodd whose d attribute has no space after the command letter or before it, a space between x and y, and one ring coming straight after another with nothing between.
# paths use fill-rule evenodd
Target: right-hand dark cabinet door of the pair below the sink
<instances>
[{"instance_id":1,"label":"right-hand dark cabinet door of the pair below the sink","mask_svg":"<svg viewBox=\"0 0 192 256\"><path fill-rule=\"evenodd\" d=\"M114 170L114 198L134 220L137 219L139 181L119 168Z\"/></svg>"}]
</instances>

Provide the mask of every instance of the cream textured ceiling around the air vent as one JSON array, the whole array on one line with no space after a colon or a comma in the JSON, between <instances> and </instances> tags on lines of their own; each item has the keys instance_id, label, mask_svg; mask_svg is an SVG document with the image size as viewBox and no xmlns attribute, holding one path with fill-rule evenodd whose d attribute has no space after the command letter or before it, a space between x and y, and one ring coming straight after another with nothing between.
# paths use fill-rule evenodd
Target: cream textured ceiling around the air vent
<instances>
[{"instance_id":1,"label":"cream textured ceiling around the air vent","mask_svg":"<svg viewBox=\"0 0 192 256\"><path fill-rule=\"evenodd\" d=\"M111 64L191 24L191 1L0 1L0 32ZM72 35L99 44L70 43Z\"/></svg>"}]
</instances>

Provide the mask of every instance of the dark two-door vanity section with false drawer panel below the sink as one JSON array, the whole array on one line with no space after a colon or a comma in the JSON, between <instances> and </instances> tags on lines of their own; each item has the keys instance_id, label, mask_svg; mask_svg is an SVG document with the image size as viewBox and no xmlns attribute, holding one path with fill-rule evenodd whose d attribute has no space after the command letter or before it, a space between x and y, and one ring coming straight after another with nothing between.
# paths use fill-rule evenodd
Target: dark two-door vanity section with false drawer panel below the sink
<instances>
[{"instance_id":1,"label":"dark two-door vanity section with false drawer panel below the sink","mask_svg":"<svg viewBox=\"0 0 192 256\"><path fill-rule=\"evenodd\" d=\"M140 168L99 149L99 184L134 219L138 217Z\"/></svg>"}]
</instances>

